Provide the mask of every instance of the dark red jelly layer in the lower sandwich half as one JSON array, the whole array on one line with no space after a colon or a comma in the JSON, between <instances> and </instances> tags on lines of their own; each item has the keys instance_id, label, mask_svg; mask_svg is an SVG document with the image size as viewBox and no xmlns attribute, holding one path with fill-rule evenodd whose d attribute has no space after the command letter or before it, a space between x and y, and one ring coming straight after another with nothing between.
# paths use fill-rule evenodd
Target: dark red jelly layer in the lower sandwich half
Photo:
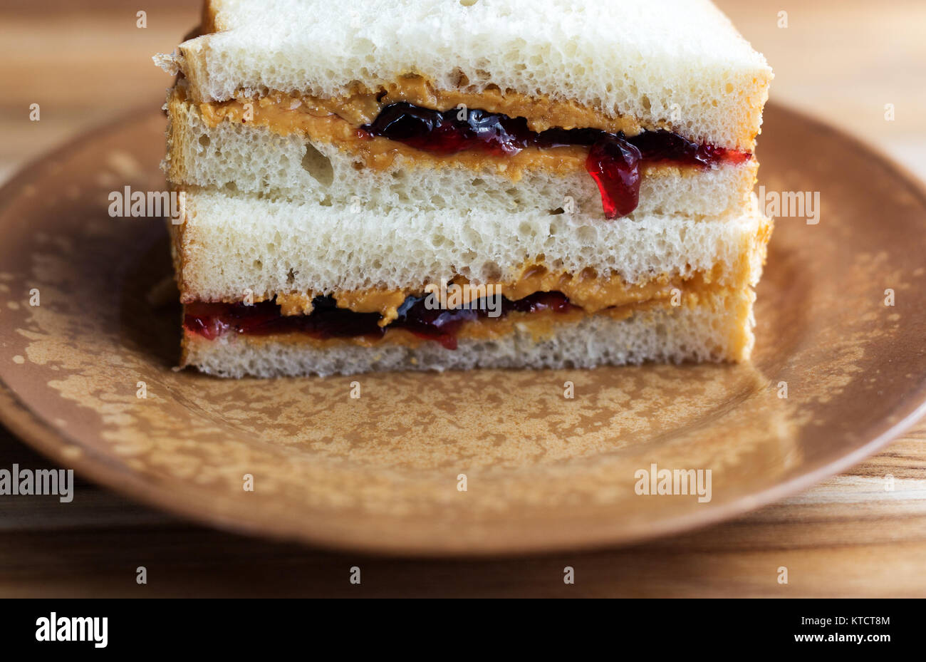
<instances>
[{"instance_id":1,"label":"dark red jelly layer in the lower sandwich half","mask_svg":"<svg viewBox=\"0 0 926 662\"><path fill-rule=\"evenodd\" d=\"M379 313L356 313L339 308L331 296L317 296L312 306L309 315L282 315L280 307L273 301L253 306L194 303L186 306L183 326L208 340L226 333L269 335L289 332L307 333L319 340L362 336L376 339L386 331L379 325L382 319ZM538 292L517 301L502 297L501 316L512 311L532 313L552 310L563 313L572 307L564 294ZM489 310L482 302L452 310L430 309L425 305L424 296L408 296L397 312L398 318L389 324L389 329L406 329L419 338L437 341L447 349L457 349L457 332L463 324L472 319L489 317Z\"/></svg>"}]
</instances>

